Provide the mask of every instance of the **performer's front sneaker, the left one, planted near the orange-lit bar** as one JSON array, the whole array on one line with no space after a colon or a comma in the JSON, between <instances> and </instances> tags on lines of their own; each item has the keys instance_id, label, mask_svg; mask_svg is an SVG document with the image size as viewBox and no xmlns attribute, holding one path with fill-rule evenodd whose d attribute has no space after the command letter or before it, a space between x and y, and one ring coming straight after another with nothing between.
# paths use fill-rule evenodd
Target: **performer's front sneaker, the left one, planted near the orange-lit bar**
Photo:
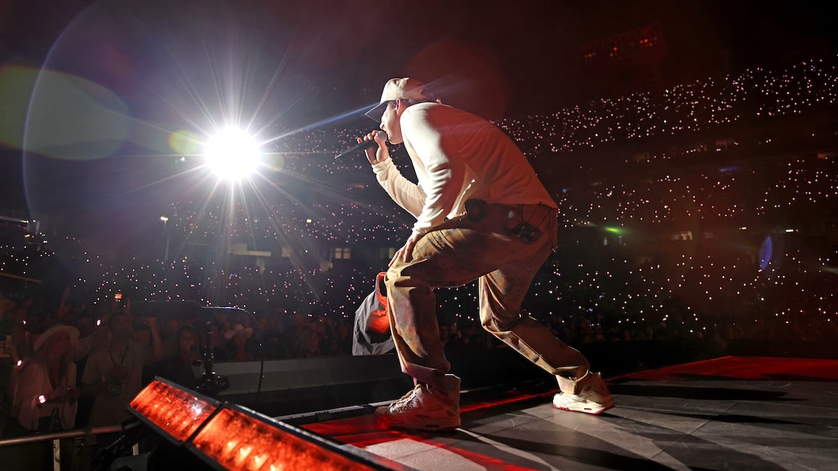
<instances>
[{"instance_id":1,"label":"performer's front sneaker, the left one, planted near the orange-lit bar","mask_svg":"<svg viewBox=\"0 0 838 471\"><path fill-rule=\"evenodd\" d=\"M390 406L378 407L375 416L387 427L394 428L441 431L460 426L460 407L434 395L423 384L416 385Z\"/></svg>"}]
</instances>

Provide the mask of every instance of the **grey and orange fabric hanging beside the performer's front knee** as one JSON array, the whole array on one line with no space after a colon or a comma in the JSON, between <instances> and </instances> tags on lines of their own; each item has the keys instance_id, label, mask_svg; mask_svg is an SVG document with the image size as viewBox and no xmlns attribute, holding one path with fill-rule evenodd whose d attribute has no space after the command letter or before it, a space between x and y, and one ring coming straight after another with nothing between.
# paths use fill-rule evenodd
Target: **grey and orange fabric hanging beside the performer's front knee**
<instances>
[{"instance_id":1,"label":"grey and orange fabric hanging beside the performer's front knee","mask_svg":"<svg viewBox=\"0 0 838 471\"><path fill-rule=\"evenodd\" d=\"M355 310L352 333L352 355L381 355L395 348L387 317L387 297L381 293L384 277L375 277L375 288Z\"/></svg>"}]
</instances>

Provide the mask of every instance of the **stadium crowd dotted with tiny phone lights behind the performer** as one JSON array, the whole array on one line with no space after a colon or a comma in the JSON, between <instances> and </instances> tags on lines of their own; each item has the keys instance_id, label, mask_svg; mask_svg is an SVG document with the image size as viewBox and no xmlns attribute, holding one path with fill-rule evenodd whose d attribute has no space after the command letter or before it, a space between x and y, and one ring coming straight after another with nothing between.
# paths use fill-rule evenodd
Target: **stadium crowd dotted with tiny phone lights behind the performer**
<instances>
[{"instance_id":1,"label":"stadium crowd dotted with tiny phone lights behind the performer","mask_svg":"<svg viewBox=\"0 0 838 471\"><path fill-rule=\"evenodd\" d=\"M838 159L819 116L836 85L833 57L498 122L560 207L559 246L525 310L569 344L835 338ZM815 117L789 124L801 116ZM70 236L4 240L0 335L19 424L118 422L115 401L150 375L189 386L206 342L218 361L350 355L354 310L410 232L362 163L334 160L358 135L290 134L275 149L282 196L178 201L164 240L130 256ZM209 324L132 315L184 300L241 310ZM446 349L500 348L475 318L474 286L439 290L438 304ZM39 388L18 387L33 375Z\"/></svg>"}]
</instances>

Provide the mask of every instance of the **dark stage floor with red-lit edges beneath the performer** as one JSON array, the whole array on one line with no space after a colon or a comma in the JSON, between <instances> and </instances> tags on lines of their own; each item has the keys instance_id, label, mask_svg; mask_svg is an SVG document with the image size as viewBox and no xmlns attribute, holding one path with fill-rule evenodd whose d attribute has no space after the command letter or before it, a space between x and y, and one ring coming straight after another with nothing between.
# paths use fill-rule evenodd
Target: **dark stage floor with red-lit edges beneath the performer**
<instances>
[{"instance_id":1,"label":"dark stage floor with red-lit edges beneath the performer","mask_svg":"<svg viewBox=\"0 0 838 471\"><path fill-rule=\"evenodd\" d=\"M369 414L303 428L416 469L838 469L838 360L728 356L607 380L617 406L599 416L509 392L464 395L454 432Z\"/></svg>"}]
</instances>

